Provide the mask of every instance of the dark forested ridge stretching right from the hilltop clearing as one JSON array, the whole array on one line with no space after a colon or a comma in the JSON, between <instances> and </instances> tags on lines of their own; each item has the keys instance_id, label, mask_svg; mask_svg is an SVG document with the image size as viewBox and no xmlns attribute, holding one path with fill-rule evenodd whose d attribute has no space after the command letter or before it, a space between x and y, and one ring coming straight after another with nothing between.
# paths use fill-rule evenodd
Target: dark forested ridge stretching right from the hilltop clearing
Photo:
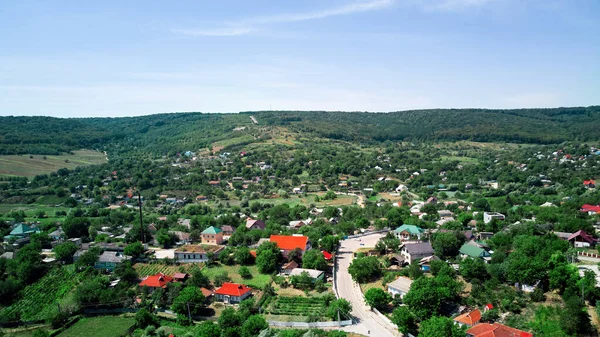
<instances>
[{"instance_id":1,"label":"dark forested ridge stretching right from the hilltop clearing","mask_svg":"<svg viewBox=\"0 0 600 337\"><path fill-rule=\"evenodd\" d=\"M555 109L436 109L390 113L253 113L263 122L318 136L353 140L474 140L560 143L600 140L600 106Z\"/></svg>"}]
</instances>

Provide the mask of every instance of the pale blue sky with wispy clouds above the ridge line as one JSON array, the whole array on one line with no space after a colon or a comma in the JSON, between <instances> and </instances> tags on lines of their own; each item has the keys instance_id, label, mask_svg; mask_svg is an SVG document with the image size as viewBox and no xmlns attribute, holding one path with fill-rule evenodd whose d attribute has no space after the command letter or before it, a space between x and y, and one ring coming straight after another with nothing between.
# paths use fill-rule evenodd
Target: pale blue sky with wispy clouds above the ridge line
<instances>
[{"instance_id":1,"label":"pale blue sky with wispy clouds above the ridge line","mask_svg":"<svg viewBox=\"0 0 600 337\"><path fill-rule=\"evenodd\" d=\"M600 104L600 1L5 1L0 115Z\"/></svg>"}]
</instances>

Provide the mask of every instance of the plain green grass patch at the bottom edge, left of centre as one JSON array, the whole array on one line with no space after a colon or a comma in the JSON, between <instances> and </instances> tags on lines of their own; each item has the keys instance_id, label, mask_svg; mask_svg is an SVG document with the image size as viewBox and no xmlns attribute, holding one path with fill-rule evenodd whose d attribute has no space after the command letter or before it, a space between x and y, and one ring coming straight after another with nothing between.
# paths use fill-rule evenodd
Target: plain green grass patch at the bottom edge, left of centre
<instances>
[{"instance_id":1,"label":"plain green grass patch at the bottom edge, left of centre","mask_svg":"<svg viewBox=\"0 0 600 337\"><path fill-rule=\"evenodd\" d=\"M135 324L133 317L102 316L82 318L58 337L119 337Z\"/></svg>"}]
</instances>

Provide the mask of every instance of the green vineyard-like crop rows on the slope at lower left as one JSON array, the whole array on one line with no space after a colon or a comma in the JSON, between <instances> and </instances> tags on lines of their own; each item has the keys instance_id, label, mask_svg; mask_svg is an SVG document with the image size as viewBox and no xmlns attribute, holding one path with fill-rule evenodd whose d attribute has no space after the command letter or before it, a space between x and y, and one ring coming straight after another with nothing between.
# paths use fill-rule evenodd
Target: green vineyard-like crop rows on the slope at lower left
<instances>
[{"instance_id":1,"label":"green vineyard-like crop rows on the slope at lower left","mask_svg":"<svg viewBox=\"0 0 600 337\"><path fill-rule=\"evenodd\" d=\"M46 319L47 311L42 309L55 306L81 282L83 276L83 273L77 273L74 265L54 268L39 281L21 290L19 299L0 311L0 316L22 321Z\"/></svg>"}]
</instances>

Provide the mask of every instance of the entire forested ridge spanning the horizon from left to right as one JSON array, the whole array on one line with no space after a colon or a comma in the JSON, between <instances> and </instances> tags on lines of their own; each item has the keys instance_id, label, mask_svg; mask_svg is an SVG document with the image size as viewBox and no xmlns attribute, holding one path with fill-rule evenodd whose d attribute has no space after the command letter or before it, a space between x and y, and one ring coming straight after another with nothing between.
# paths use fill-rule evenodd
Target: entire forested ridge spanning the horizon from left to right
<instances>
[{"instance_id":1,"label":"entire forested ridge spanning the horizon from left to right","mask_svg":"<svg viewBox=\"0 0 600 337\"><path fill-rule=\"evenodd\" d=\"M600 140L600 106L555 109L436 109L390 113L259 111L173 113L126 118L0 117L0 154L55 154L112 147L164 153L238 137L235 127L283 126L317 137L360 142L474 140L560 143Z\"/></svg>"}]
</instances>

